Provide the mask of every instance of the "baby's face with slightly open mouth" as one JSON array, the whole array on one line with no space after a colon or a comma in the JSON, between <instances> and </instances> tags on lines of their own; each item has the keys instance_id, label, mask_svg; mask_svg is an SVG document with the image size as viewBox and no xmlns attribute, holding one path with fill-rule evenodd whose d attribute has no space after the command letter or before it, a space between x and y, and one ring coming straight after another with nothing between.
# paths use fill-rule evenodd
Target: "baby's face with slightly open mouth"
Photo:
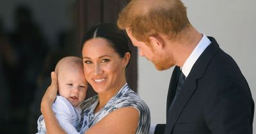
<instances>
[{"instance_id":1,"label":"baby's face with slightly open mouth","mask_svg":"<svg viewBox=\"0 0 256 134\"><path fill-rule=\"evenodd\" d=\"M84 101L88 83L84 78L83 70L69 68L58 73L59 94L77 107Z\"/></svg>"}]
</instances>

